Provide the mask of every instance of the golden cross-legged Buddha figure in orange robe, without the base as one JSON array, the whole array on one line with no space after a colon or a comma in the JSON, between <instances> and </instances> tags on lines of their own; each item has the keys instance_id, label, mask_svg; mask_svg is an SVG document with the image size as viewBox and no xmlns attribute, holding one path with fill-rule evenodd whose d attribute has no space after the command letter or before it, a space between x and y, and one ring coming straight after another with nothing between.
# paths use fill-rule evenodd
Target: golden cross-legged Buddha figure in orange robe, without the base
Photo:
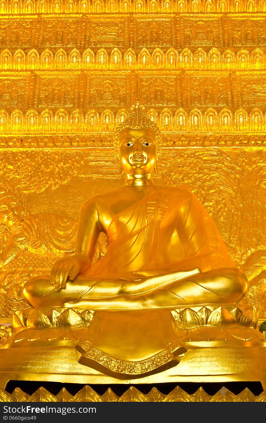
<instances>
[{"instance_id":1,"label":"golden cross-legged Buddha figure in orange robe, without the base","mask_svg":"<svg viewBox=\"0 0 266 423\"><path fill-rule=\"evenodd\" d=\"M161 137L140 107L118 129L115 150L124 185L83 204L75 254L60 258L50 276L29 280L27 302L89 310L239 302L247 278L233 265L207 211L188 187L154 184ZM101 232L107 253L91 266Z\"/></svg>"}]
</instances>

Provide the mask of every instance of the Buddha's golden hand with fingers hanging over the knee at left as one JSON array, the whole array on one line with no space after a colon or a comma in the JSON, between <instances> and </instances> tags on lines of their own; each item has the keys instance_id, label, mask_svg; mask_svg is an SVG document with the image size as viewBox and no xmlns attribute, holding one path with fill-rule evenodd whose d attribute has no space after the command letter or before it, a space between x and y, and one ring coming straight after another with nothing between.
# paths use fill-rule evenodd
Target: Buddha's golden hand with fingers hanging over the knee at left
<instances>
[{"instance_id":1,"label":"Buddha's golden hand with fingers hanging over the knee at left","mask_svg":"<svg viewBox=\"0 0 266 423\"><path fill-rule=\"evenodd\" d=\"M77 275L90 267L89 258L83 255L72 255L60 258L52 266L50 282L58 291L65 288L68 280L73 282Z\"/></svg>"}]
</instances>

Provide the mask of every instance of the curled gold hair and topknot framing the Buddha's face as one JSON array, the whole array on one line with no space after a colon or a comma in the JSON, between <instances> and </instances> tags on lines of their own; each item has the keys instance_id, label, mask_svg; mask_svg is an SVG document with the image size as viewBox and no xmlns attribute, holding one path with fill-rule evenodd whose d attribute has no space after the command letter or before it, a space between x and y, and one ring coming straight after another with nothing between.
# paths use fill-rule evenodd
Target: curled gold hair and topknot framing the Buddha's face
<instances>
[{"instance_id":1,"label":"curled gold hair and topknot framing the Buddha's face","mask_svg":"<svg viewBox=\"0 0 266 423\"><path fill-rule=\"evenodd\" d=\"M140 109L139 107L131 109L129 112L128 117L115 129L115 139L114 139L114 150L115 150L115 157L119 156L118 153L118 140L120 137L120 133L123 129L132 128L132 129L141 129L141 128L148 128L153 129L156 133L156 141L157 141L157 152L158 156L162 153L162 134L158 126L151 121L150 118L146 115L145 111Z\"/></svg>"}]
</instances>

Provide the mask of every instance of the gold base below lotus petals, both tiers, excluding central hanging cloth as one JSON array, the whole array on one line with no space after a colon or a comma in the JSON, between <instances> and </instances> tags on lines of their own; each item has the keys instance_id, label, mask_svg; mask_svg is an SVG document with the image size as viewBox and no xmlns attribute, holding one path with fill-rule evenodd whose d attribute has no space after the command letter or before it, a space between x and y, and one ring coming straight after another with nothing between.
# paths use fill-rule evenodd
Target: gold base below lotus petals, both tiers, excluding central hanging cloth
<instances>
[{"instance_id":1,"label":"gold base below lotus petals, both tiers, excluding central hanging cloth","mask_svg":"<svg viewBox=\"0 0 266 423\"><path fill-rule=\"evenodd\" d=\"M60 328L25 329L12 335L0 348L0 387L5 389L10 380L88 385L242 381L261 382L266 389L266 341L255 329L205 326L180 330L183 338L180 345L185 352L177 357L176 365L172 363L172 367L163 371L158 369L156 374L128 379L99 371L99 368L104 369L101 360L98 363L96 359L91 360L91 366L88 362L81 364L84 354L78 351L79 329L83 330L65 328L68 339L62 337ZM243 329L246 340L239 337ZM56 340L55 331L58 331L60 341ZM182 350L179 349L179 352ZM107 362L105 365L112 365L110 357L109 361L107 357L104 360ZM138 365L137 362L132 364Z\"/></svg>"}]
</instances>

